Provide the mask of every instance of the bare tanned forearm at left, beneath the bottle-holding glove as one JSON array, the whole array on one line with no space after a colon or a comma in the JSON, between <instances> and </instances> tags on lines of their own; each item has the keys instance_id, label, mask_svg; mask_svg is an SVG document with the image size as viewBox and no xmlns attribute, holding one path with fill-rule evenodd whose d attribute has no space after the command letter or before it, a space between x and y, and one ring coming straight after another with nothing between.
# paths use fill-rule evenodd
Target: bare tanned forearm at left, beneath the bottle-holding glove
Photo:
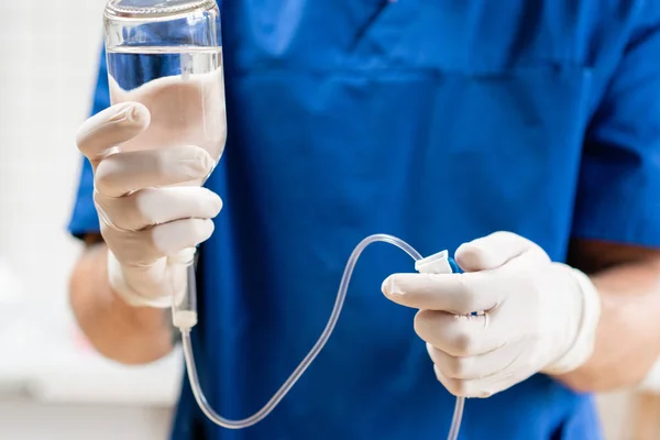
<instances>
[{"instance_id":1,"label":"bare tanned forearm at left, beneath the bottle-holding glove","mask_svg":"<svg viewBox=\"0 0 660 440\"><path fill-rule=\"evenodd\" d=\"M107 358L142 364L172 350L166 311L133 308L112 293L106 273L106 245L90 246L78 261L70 282L70 302L78 324Z\"/></svg>"}]
</instances>

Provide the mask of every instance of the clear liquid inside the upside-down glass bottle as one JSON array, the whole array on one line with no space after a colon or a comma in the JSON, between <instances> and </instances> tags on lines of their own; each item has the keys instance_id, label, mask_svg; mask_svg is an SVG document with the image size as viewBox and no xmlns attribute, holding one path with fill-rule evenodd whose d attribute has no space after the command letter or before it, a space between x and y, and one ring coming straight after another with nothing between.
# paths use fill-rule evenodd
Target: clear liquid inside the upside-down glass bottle
<instances>
[{"instance_id":1,"label":"clear liquid inside the upside-down glass bottle","mask_svg":"<svg viewBox=\"0 0 660 440\"><path fill-rule=\"evenodd\" d=\"M121 151L197 145L220 160L227 140L220 47L116 47L107 57L112 103L140 102L151 112L148 128Z\"/></svg>"}]
</instances>

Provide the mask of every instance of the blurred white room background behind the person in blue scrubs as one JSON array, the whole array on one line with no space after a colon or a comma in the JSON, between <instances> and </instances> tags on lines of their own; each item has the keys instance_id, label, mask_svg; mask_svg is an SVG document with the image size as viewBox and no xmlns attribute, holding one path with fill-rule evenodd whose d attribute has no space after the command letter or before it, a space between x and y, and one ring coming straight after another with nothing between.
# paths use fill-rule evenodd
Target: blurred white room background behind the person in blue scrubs
<instances>
[{"instance_id":1,"label":"blurred white room background behind the person in blue scrubs","mask_svg":"<svg viewBox=\"0 0 660 440\"><path fill-rule=\"evenodd\" d=\"M166 439L178 394L178 353L112 364L68 310L74 133L90 108L103 3L0 2L0 439ZM630 396L601 397L608 440L634 439Z\"/></svg>"}]
</instances>

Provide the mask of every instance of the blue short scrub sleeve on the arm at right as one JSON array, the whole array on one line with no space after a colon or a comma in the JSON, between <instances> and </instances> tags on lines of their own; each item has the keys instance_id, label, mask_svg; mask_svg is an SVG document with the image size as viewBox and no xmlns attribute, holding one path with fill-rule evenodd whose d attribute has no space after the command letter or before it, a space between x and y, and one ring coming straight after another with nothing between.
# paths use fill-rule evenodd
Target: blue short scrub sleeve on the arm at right
<instances>
[{"instance_id":1,"label":"blue short scrub sleeve on the arm at right","mask_svg":"<svg viewBox=\"0 0 660 440\"><path fill-rule=\"evenodd\" d=\"M659 57L657 21L628 42L587 132L575 238L660 246Z\"/></svg>"}]
</instances>

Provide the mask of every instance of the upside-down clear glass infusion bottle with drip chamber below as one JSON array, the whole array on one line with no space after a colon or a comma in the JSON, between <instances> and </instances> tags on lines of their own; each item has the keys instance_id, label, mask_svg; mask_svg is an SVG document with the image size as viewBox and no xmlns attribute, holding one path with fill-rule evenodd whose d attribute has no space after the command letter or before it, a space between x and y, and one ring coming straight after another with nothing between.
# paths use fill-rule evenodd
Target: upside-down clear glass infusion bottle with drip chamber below
<instances>
[{"instance_id":1,"label":"upside-down clear glass infusion bottle with drip chamber below","mask_svg":"<svg viewBox=\"0 0 660 440\"><path fill-rule=\"evenodd\" d=\"M111 103L140 102L151 113L147 129L118 148L196 145L217 164L227 119L216 1L109 0L103 18ZM182 262L189 266L189 279L188 293L174 298L177 327L197 322L193 260Z\"/></svg>"}]
</instances>

